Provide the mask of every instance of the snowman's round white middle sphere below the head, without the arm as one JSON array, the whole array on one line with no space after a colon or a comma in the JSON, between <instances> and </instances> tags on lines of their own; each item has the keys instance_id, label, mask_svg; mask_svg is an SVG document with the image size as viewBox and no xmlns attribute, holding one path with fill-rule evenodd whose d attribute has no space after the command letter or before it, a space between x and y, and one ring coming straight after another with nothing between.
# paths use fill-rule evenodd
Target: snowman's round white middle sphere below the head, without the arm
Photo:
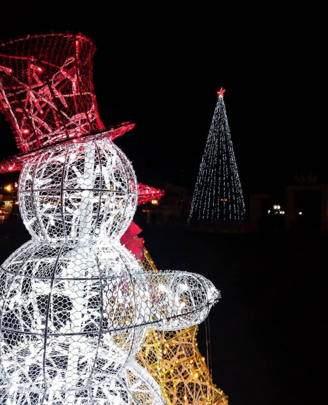
<instances>
[{"instance_id":1,"label":"snowman's round white middle sphere below the head, without the arm","mask_svg":"<svg viewBox=\"0 0 328 405\"><path fill-rule=\"evenodd\" d=\"M135 323L129 274L142 270L113 245L29 241L2 265L0 360L9 384L81 390L110 381L134 358L145 328L128 329Z\"/></svg>"}]
</instances>

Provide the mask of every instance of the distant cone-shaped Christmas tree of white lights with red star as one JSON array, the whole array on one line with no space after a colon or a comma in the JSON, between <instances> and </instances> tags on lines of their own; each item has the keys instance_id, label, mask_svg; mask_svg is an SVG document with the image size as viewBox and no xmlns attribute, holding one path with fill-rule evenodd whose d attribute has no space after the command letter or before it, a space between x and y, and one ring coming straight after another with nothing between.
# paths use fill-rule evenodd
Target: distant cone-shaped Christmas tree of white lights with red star
<instances>
[{"instance_id":1,"label":"distant cone-shaped Christmas tree of white lights with red star","mask_svg":"<svg viewBox=\"0 0 328 405\"><path fill-rule=\"evenodd\" d=\"M193 194L191 219L244 219L243 192L223 93L222 88L217 92L218 100Z\"/></svg>"}]
</instances>

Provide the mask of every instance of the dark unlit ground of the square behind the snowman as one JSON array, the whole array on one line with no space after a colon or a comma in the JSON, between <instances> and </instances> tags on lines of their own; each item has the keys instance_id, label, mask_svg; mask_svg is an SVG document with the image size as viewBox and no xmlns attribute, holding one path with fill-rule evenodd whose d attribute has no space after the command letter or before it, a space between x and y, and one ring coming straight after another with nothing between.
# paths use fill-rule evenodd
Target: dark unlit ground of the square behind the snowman
<instances>
[{"instance_id":1,"label":"dark unlit ground of the square behind the snowman","mask_svg":"<svg viewBox=\"0 0 328 405\"><path fill-rule=\"evenodd\" d=\"M160 269L210 278L222 299L210 313L213 380L230 405L323 405L326 384L326 236L198 233L147 228ZM29 238L0 225L0 259ZM205 328L199 347L206 355Z\"/></svg>"}]
</instances>

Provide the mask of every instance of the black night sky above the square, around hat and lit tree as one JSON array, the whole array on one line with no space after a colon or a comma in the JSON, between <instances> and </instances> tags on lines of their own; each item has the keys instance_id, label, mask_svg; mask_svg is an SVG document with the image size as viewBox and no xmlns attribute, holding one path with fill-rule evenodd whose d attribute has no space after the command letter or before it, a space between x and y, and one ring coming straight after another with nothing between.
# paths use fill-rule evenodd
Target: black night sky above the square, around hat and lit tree
<instances>
[{"instance_id":1,"label":"black night sky above the square, around hat and lit tree","mask_svg":"<svg viewBox=\"0 0 328 405\"><path fill-rule=\"evenodd\" d=\"M141 182L180 182L183 171L184 183L193 189L221 86L246 197L282 191L295 173L309 170L319 181L328 180L319 11L273 10L269 19L259 20L248 9L243 22L214 10L173 15L148 9L154 19L133 17L134 12L142 14L112 10L101 18L98 10L83 18L67 12L65 18L44 13L31 20L31 11L23 10L15 24L4 21L0 38L50 30L93 38L101 116L106 125L136 122L116 143ZM0 157L16 153L1 117L0 131L6 146Z\"/></svg>"}]
</instances>

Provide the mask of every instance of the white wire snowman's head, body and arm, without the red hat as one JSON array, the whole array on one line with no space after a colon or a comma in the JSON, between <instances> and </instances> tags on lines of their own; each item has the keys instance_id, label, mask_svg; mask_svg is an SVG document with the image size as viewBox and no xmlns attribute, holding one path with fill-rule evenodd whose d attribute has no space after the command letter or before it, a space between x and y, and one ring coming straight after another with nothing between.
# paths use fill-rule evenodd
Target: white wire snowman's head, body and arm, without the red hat
<instances>
[{"instance_id":1,"label":"white wire snowman's head, body and arm, without the red hat","mask_svg":"<svg viewBox=\"0 0 328 405\"><path fill-rule=\"evenodd\" d=\"M120 244L138 184L111 133L22 160L20 212L32 239L0 268L1 405L164 404L135 361L147 328L196 325L218 299L205 277L146 273Z\"/></svg>"}]
</instances>

